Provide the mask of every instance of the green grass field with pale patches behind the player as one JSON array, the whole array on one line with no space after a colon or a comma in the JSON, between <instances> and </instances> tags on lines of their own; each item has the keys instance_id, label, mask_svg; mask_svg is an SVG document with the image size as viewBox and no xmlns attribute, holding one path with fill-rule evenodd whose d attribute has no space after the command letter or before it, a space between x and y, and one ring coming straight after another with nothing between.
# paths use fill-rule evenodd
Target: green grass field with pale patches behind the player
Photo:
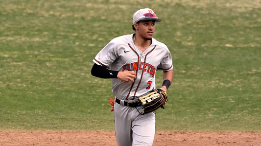
<instances>
[{"instance_id":1,"label":"green grass field with pale patches behind the player","mask_svg":"<svg viewBox=\"0 0 261 146\"><path fill-rule=\"evenodd\" d=\"M92 60L145 7L175 72L156 129L260 131L261 0L0 0L0 129L113 130Z\"/></svg>"}]
</instances>

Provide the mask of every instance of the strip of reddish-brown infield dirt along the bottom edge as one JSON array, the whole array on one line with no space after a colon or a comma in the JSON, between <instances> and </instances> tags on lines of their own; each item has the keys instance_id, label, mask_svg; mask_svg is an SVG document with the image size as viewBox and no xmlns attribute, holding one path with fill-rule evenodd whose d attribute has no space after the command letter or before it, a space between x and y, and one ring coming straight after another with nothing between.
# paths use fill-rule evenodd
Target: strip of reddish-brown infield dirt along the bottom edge
<instances>
[{"instance_id":1,"label":"strip of reddish-brown infield dirt along the bottom edge","mask_svg":"<svg viewBox=\"0 0 261 146\"><path fill-rule=\"evenodd\" d=\"M0 146L117 146L114 131L0 130ZM261 146L261 132L157 131L153 146Z\"/></svg>"}]
</instances>

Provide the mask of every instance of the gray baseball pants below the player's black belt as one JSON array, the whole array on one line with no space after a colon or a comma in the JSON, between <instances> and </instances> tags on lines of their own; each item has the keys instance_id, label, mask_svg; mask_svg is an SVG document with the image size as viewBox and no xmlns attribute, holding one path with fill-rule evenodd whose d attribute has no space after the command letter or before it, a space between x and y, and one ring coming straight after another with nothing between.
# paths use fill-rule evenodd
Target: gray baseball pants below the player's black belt
<instances>
[{"instance_id":1,"label":"gray baseball pants below the player's black belt","mask_svg":"<svg viewBox=\"0 0 261 146\"><path fill-rule=\"evenodd\" d=\"M142 106L136 107L142 113ZM115 135L118 146L152 146L155 113L141 115L136 108L115 103Z\"/></svg>"}]
</instances>

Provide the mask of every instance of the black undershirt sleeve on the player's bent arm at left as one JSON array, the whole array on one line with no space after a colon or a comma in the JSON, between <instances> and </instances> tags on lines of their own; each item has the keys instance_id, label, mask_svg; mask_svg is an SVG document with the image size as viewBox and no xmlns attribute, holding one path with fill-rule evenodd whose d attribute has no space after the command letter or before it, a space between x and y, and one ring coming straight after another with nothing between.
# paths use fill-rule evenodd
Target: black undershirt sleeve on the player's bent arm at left
<instances>
[{"instance_id":1,"label":"black undershirt sleeve on the player's bent arm at left","mask_svg":"<svg viewBox=\"0 0 261 146\"><path fill-rule=\"evenodd\" d=\"M94 64L92 71L93 76L100 77L100 78L117 78L118 71L108 70L101 65Z\"/></svg>"}]
</instances>

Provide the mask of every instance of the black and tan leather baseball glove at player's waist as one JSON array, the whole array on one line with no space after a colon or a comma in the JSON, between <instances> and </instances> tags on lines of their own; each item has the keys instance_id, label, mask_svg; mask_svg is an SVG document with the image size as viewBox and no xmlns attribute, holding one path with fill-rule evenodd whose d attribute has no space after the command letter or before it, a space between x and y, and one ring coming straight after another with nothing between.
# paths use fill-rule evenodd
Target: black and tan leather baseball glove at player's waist
<instances>
[{"instance_id":1,"label":"black and tan leather baseball glove at player's waist","mask_svg":"<svg viewBox=\"0 0 261 146\"><path fill-rule=\"evenodd\" d=\"M143 111L142 113L149 113L159 109L160 107L164 109L164 105L167 102L167 93L162 89L156 89L146 93L143 96L139 97L142 102Z\"/></svg>"}]
</instances>

